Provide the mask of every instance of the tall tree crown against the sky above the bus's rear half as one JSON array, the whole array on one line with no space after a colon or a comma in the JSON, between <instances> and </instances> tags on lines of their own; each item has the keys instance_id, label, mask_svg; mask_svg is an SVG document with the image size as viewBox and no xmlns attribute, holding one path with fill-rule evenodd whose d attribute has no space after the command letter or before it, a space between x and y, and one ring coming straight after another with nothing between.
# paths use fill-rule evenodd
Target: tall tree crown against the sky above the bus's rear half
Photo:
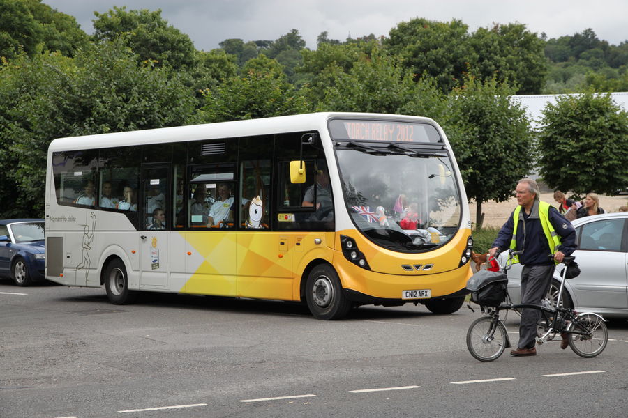
<instances>
[{"instance_id":1,"label":"tall tree crown against the sky above the bus's rear half","mask_svg":"<svg viewBox=\"0 0 628 418\"><path fill-rule=\"evenodd\" d=\"M156 61L174 69L190 67L195 49L190 37L169 25L161 10L126 10L114 6L107 13L94 12L94 39L128 38L129 46L140 61Z\"/></svg>"}]
</instances>

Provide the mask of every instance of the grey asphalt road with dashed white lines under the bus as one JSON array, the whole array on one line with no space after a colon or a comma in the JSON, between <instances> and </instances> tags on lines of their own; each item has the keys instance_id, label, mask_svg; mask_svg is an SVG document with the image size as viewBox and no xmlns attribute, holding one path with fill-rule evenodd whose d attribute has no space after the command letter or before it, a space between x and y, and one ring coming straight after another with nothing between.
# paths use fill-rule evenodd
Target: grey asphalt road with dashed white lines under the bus
<instances>
[{"instance_id":1,"label":"grey asphalt road with dashed white lines under the bus","mask_svg":"<svg viewBox=\"0 0 628 418\"><path fill-rule=\"evenodd\" d=\"M327 322L156 293L114 306L100 289L0 279L0 417L628 416L625 320L594 359L552 341L481 363L465 346L478 316L371 306Z\"/></svg>"}]
</instances>

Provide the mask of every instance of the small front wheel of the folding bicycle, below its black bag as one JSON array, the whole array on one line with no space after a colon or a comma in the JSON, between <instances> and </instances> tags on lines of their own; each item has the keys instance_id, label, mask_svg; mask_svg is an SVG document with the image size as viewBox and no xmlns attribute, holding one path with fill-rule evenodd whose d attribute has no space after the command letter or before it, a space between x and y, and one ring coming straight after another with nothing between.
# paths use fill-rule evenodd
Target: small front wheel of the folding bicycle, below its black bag
<instances>
[{"instance_id":1,"label":"small front wheel of the folding bicycle, below its black bag","mask_svg":"<svg viewBox=\"0 0 628 418\"><path fill-rule=\"evenodd\" d=\"M504 353L508 336L498 318L483 316L474 320L467 331L469 353L480 362L492 362Z\"/></svg>"}]
</instances>

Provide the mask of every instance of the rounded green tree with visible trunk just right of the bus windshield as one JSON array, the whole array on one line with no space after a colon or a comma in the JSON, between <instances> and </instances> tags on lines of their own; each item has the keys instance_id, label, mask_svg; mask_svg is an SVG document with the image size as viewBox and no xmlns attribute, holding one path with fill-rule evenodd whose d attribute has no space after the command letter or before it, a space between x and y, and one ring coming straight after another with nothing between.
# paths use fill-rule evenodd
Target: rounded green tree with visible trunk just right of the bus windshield
<instances>
[{"instance_id":1,"label":"rounded green tree with visible trunk just right of the bus windshield","mask_svg":"<svg viewBox=\"0 0 628 418\"><path fill-rule=\"evenodd\" d=\"M444 123L468 199L477 208L481 229L482 203L507 201L517 180L532 171L532 137L525 109L512 103L514 88L495 77L481 81L465 76L465 84L449 94L449 118Z\"/></svg>"}]
</instances>

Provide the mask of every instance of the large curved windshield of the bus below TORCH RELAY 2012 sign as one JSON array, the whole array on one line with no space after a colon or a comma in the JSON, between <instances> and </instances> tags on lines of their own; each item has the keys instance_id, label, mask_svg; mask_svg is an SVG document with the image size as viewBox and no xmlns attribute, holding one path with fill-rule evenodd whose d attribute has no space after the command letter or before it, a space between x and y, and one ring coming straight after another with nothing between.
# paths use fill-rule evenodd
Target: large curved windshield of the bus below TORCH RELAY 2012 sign
<instances>
[{"instance_id":1,"label":"large curved windshield of the bus below TORCH RELAY 2012 sign","mask_svg":"<svg viewBox=\"0 0 628 418\"><path fill-rule=\"evenodd\" d=\"M461 198L442 147L345 140L335 150L347 210L377 245L426 251L458 231Z\"/></svg>"}]
</instances>

